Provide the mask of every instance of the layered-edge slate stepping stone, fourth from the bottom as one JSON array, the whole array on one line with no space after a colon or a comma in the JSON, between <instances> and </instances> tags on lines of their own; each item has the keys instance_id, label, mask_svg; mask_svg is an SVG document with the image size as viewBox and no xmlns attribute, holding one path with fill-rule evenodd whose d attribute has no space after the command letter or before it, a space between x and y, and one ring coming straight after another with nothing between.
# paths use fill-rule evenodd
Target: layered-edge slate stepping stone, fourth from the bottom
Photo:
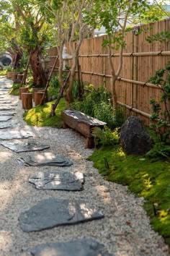
<instances>
[{"instance_id":1,"label":"layered-edge slate stepping stone, fourth from the bottom","mask_svg":"<svg viewBox=\"0 0 170 256\"><path fill-rule=\"evenodd\" d=\"M71 166L73 163L63 155L54 155L50 152L37 153L33 157L18 158L19 164L24 166Z\"/></svg>"}]
</instances>

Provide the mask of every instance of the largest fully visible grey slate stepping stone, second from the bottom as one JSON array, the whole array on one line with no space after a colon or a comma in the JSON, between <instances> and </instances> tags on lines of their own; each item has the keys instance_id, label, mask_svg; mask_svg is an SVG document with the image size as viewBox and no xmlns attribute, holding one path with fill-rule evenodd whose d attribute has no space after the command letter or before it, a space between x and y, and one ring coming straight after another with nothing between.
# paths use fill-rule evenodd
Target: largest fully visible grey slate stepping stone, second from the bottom
<instances>
[{"instance_id":1,"label":"largest fully visible grey slate stepping stone, second from the bottom","mask_svg":"<svg viewBox=\"0 0 170 256\"><path fill-rule=\"evenodd\" d=\"M104 218L102 212L84 201L49 198L21 213L19 224L22 231L32 232L99 218Z\"/></svg>"}]
</instances>

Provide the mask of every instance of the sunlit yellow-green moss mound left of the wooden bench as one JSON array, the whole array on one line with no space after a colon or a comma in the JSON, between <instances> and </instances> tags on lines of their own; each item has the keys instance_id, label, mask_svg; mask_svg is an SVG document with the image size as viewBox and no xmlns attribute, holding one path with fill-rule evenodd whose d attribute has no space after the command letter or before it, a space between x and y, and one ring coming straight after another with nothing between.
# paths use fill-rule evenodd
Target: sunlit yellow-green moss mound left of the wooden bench
<instances>
[{"instance_id":1,"label":"sunlit yellow-green moss mound left of the wooden bench","mask_svg":"<svg viewBox=\"0 0 170 256\"><path fill-rule=\"evenodd\" d=\"M54 101L48 102L43 106L36 106L31 108L24 113L24 121L28 125L37 126L37 127L62 127L61 121L61 111L66 108L64 98L61 98L58 107L55 110L55 116L50 117L51 104Z\"/></svg>"}]
</instances>

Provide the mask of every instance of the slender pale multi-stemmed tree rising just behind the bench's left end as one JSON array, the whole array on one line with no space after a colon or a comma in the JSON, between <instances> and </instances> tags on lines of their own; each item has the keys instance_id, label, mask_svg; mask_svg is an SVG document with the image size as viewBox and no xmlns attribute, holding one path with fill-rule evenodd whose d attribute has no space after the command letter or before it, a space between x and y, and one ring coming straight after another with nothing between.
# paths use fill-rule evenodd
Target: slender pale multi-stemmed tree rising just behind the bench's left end
<instances>
[{"instance_id":1,"label":"slender pale multi-stemmed tree rising just behind the bench's left end","mask_svg":"<svg viewBox=\"0 0 170 256\"><path fill-rule=\"evenodd\" d=\"M41 0L40 0L41 1ZM68 86L64 90L66 106L73 102L72 90L78 62L79 48L86 35L90 32L91 26L84 22L84 9L91 7L89 0L66 0L66 1L41 1L54 17L55 40L59 54L59 80L63 85L63 43L67 43L72 55L71 75ZM76 41L76 45L73 43Z\"/></svg>"}]
</instances>

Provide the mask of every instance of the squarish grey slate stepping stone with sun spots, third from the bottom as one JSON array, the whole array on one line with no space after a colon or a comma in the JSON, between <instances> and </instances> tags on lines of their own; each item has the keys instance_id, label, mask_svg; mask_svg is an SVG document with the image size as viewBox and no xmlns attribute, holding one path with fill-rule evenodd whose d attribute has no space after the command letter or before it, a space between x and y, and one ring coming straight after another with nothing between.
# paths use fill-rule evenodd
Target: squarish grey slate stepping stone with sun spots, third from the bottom
<instances>
[{"instance_id":1,"label":"squarish grey slate stepping stone with sun spots, third from the bottom","mask_svg":"<svg viewBox=\"0 0 170 256\"><path fill-rule=\"evenodd\" d=\"M83 189L84 174L78 171L75 174L69 171L41 171L30 175L29 182L34 184L36 189L79 191Z\"/></svg>"}]
</instances>

